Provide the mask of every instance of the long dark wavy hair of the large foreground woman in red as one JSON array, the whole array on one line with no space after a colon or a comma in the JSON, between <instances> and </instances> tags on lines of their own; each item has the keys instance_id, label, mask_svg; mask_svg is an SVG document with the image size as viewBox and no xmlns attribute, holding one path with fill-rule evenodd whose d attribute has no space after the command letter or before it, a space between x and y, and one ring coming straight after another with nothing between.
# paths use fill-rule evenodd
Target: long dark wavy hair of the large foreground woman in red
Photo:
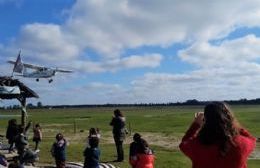
<instances>
[{"instance_id":1,"label":"long dark wavy hair of the large foreground woman in red","mask_svg":"<svg viewBox=\"0 0 260 168\"><path fill-rule=\"evenodd\" d=\"M235 143L233 137L238 134L238 122L227 104L212 102L204 108L204 125L198 138L204 145L217 144L221 156L225 156Z\"/></svg>"}]
</instances>

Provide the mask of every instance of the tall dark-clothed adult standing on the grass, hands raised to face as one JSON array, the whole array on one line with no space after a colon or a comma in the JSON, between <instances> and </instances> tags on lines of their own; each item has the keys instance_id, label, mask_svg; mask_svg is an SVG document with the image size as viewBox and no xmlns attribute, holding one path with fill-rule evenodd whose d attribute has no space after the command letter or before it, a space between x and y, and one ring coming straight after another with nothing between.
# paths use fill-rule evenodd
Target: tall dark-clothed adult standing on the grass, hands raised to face
<instances>
[{"instance_id":1,"label":"tall dark-clothed adult standing on the grass, hands raised to face","mask_svg":"<svg viewBox=\"0 0 260 168\"><path fill-rule=\"evenodd\" d=\"M110 125L113 127L113 137L117 151L116 162L124 161L123 141L126 136L125 121L126 119L122 112L119 109L114 110L114 116L110 122Z\"/></svg>"}]
</instances>

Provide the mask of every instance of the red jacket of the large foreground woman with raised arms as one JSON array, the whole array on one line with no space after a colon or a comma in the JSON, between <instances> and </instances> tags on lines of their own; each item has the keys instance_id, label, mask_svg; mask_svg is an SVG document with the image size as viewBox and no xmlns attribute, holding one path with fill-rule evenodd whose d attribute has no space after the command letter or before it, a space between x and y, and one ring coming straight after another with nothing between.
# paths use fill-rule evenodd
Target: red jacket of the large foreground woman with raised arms
<instances>
[{"instance_id":1,"label":"red jacket of the large foreground woman with raised arms","mask_svg":"<svg viewBox=\"0 0 260 168\"><path fill-rule=\"evenodd\" d=\"M200 126L193 123L180 144L181 151L192 161L193 168L247 168L247 158L254 150L256 139L246 130L234 137L236 146L220 156L217 145L203 145L197 138Z\"/></svg>"}]
</instances>

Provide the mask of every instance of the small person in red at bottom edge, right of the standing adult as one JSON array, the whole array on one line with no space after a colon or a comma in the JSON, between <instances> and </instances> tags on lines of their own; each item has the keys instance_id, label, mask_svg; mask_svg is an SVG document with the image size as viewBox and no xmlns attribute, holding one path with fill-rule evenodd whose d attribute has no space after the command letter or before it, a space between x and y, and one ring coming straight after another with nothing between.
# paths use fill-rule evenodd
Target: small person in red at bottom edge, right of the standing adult
<instances>
[{"instance_id":1,"label":"small person in red at bottom edge, right of the standing adult","mask_svg":"<svg viewBox=\"0 0 260 168\"><path fill-rule=\"evenodd\" d=\"M135 158L130 160L130 164L133 168L154 168L154 154L149 148L148 143L144 139L140 139L138 142L138 149Z\"/></svg>"}]
</instances>

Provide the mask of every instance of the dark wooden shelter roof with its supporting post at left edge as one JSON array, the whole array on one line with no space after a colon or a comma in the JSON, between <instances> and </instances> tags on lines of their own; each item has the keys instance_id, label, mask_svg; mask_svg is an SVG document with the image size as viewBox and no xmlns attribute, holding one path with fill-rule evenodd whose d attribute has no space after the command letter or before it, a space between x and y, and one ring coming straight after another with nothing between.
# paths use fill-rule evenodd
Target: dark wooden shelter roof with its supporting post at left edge
<instances>
[{"instance_id":1,"label":"dark wooden shelter roof with its supporting post at left edge","mask_svg":"<svg viewBox=\"0 0 260 168\"><path fill-rule=\"evenodd\" d=\"M26 98L39 98L37 93L27 87L25 84L20 82L18 79L13 79L12 77L3 76L0 77L1 87L14 87L19 88L19 93L6 93L0 92L1 99L17 99L21 103L21 124L25 126L26 124Z\"/></svg>"}]
</instances>

